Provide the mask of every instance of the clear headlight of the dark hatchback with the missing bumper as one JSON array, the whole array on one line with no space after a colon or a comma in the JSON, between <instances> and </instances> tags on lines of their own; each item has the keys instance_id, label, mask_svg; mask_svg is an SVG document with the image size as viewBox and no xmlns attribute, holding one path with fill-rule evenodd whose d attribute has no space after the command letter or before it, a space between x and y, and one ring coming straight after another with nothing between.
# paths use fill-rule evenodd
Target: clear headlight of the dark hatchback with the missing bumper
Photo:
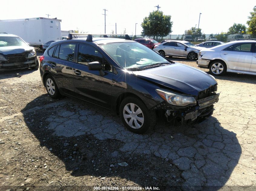
<instances>
[{"instance_id":1,"label":"clear headlight of the dark hatchback with the missing bumper","mask_svg":"<svg viewBox=\"0 0 256 191\"><path fill-rule=\"evenodd\" d=\"M196 100L191 96L185 96L165 89L156 89L155 91L163 100L166 100L172 105L187 106L189 104L196 104Z\"/></svg>"}]
</instances>

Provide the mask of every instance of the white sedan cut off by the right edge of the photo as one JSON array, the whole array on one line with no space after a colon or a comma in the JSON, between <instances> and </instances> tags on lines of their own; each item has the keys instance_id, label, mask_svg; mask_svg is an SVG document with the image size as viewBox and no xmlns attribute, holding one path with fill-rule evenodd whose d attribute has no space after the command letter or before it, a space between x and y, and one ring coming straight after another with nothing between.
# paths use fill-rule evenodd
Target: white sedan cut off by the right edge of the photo
<instances>
[{"instance_id":1,"label":"white sedan cut off by the right edge of the photo","mask_svg":"<svg viewBox=\"0 0 256 191\"><path fill-rule=\"evenodd\" d=\"M197 64L212 75L236 72L256 75L256 41L240 40L201 50Z\"/></svg>"}]
</instances>

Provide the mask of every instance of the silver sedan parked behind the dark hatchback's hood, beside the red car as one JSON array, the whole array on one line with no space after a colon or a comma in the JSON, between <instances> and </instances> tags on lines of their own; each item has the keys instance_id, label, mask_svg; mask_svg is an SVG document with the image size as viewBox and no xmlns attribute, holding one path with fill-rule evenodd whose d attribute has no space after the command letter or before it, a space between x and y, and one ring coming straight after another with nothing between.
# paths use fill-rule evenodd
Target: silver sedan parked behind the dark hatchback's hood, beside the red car
<instances>
[{"instance_id":1,"label":"silver sedan parked behind the dark hatchback's hood, beside the red car","mask_svg":"<svg viewBox=\"0 0 256 191\"><path fill-rule=\"evenodd\" d=\"M188 41L172 40L156 45L154 50L162 56L185 57L189 60L196 60L203 47L195 46Z\"/></svg>"}]
</instances>

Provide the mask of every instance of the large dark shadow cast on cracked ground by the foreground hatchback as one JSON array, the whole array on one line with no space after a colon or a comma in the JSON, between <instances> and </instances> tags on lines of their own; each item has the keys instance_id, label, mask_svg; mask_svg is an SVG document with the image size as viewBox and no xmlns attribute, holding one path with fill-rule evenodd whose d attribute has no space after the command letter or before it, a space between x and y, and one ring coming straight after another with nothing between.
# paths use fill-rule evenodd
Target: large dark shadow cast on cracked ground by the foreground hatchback
<instances>
[{"instance_id":1,"label":"large dark shadow cast on cracked ground by the foreground hatchback","mask_svg":"<svg viewBox=\"0 0 256 191\"><path fill-rule=\"evenodd\" d=\"M236 134L214 117L194 126L158 123L138 135L126 130L109 110L65 99L62 105L55 105L57 101L29 112L32 101L22 113L40 146L65 164L58 169L73 177L89 175L92 182L109 186L120 177L161 190L218 190L238 164L241 146ZM118 164L122 162L128 166ZM122 186L131 186L126 184Z\"/></svg>"}]
</instances>

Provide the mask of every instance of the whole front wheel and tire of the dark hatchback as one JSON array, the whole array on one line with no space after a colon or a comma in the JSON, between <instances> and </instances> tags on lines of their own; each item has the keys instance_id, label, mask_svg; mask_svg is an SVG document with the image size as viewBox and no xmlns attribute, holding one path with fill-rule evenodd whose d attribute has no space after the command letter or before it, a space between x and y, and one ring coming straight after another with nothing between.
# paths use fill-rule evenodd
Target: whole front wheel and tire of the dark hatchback
<instances>
[{"instance_id":1,"label":"whole front wheel and tire of the dark hatchback","mask_svg":"<svg viewBox=\"0 0 256 191\"><path fill-rule=\"evenodd\" d=\"M155 111L148 110L145 104L136 97L127 97L122 100L119 113L125 127L134 133L145 133L156 123Z\"/></svg>"}]
</instances>

